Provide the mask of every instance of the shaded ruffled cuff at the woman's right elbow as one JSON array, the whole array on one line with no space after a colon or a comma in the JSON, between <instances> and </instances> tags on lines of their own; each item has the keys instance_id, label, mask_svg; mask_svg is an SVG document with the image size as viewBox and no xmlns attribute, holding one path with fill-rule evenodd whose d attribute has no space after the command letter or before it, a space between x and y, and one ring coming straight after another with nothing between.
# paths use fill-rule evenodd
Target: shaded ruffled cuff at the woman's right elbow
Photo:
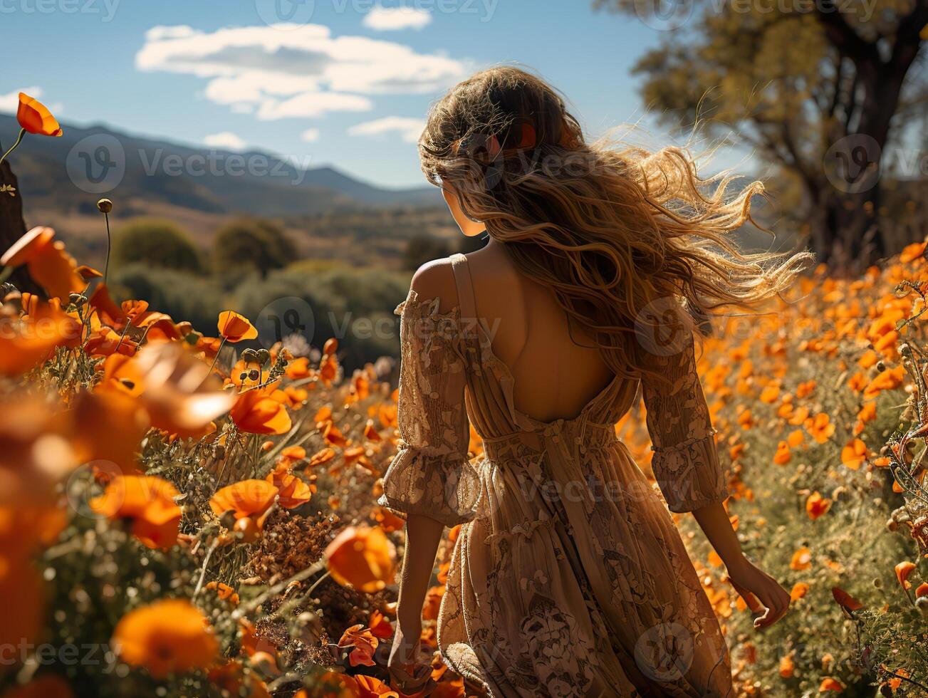
<instances>
[{"instance_id":1,"label":"shaded ruffled cuff at the woman's right elbow","mask_svg":"<svg viewBox=\"0 0 928 698\"><path fill-rule=\"evenodd\" d=\"M715 430L654 448L651 469L670 511L693 511L728 497L728 479L718 462L714 434Z\"/></svg>"}]
</instances>

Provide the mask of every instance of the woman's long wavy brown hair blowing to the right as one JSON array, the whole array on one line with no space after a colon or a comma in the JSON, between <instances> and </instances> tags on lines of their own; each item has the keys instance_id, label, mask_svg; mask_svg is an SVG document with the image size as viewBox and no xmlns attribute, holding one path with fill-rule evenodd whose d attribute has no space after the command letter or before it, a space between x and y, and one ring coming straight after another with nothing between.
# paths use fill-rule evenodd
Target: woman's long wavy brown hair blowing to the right
<instances>
[{"instance_id":1,"label":"woman's long wavy brown hair blowing to the right","mask_svg":"<svg viewBox=\"0 0 928 698\"><path fill-rule=\"evenodd\" d=\"M685 149L586 143L561 95L518 68L478 72L435 103L419 156L426 177L457 195L523 275L553 289L620 375L653 372L641 326L664 323L671 306L686 309L673 322L750 307L811 260L744 252L732 239L753 223L760 182L702 179Z\"/></svg>"}]
</instances>

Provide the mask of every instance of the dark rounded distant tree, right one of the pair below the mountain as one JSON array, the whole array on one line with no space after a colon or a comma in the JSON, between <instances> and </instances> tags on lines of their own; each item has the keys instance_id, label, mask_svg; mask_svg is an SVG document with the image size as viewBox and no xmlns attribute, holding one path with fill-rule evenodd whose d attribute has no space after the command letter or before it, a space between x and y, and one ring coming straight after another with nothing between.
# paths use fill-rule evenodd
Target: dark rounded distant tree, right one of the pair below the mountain
<instances>
[{"instance_id":1,"label":"dark rounded distant tree, right one of the pair below the mountain","mask_svg":"<svg viewBox=\"0 0 928 698\"><path fill-rule=\"evenodd\" d=\"M260 218L236 218L219 228L213 238L213 259L218 270L256 269L261 278L298 257L283 228Z\"/></svg>"}]
</instances>

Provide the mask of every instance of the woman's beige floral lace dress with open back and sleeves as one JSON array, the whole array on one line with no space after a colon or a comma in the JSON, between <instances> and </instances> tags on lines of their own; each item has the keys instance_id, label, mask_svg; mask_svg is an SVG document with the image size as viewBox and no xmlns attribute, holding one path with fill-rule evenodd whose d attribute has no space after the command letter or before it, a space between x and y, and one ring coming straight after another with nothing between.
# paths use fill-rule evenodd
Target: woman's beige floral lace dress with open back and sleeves
<instances>
[{"instance_id":1,"label":"woman's beige floral lace dress with open back and sleeves","mask_svg":"<svg viewBox=\"0 0 928 698\"><path fill-rule=\"evenodd\" d=\"M445 664L492 696L732 695L725 640L667 511L726 497L692 342L654 356L669 385L641 381L664 505L613 427L639 381L617 376L571 420L523 414L474 319L466 260L452 261L452 311L416 291L396 308L401 443L380 498L463 524L438 618Z\"/></svg>"}]
</instances>

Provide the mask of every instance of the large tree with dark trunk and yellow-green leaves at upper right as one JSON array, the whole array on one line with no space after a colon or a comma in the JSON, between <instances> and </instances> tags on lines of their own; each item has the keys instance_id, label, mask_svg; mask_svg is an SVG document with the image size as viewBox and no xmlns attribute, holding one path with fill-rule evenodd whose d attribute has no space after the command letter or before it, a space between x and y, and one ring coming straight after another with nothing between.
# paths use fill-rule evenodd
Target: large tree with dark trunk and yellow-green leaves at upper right
<instances>
[{"instance_id":1,"label":"large tree with dark trunk and yellow-green leaves at upper right","mask_svg":"<svg viewBox=\"0 0 928 698\"><path fill-rule=\"evenodd\" d=\"M670 13L662 3L677 3ZM666 37L640 58L643 97L666 122L737 136L800 187L822 261L884 253L881 166L928 102L928 0L595 0ZM920 35L921 32L921 35Z\"/></svg>"}]
</instances>

